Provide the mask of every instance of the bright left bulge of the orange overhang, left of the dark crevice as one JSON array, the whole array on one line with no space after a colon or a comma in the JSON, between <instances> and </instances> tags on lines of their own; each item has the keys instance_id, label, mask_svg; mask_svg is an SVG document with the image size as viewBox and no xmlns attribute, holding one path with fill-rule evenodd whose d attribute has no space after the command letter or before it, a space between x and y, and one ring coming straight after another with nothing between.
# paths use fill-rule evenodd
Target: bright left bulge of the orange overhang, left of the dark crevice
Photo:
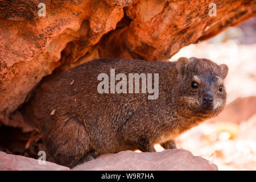
<instances>
[{"instance_id":1,"label":"bright left bulge of the orange overhang, left of the dark crevice","mask_svg":"<svg viewBox=\"0 0 256 182\"><path fill-rule=\"evenodd\" d=\"M0 2L0 119L5 124L6 115L42 77L66 61L60 59L65 47L65 53L72 47L69 57L76 61L123 17L121 7L104 1L44 3L46 17L38 16L38 1Z\"/></svg>"}]
</instances>

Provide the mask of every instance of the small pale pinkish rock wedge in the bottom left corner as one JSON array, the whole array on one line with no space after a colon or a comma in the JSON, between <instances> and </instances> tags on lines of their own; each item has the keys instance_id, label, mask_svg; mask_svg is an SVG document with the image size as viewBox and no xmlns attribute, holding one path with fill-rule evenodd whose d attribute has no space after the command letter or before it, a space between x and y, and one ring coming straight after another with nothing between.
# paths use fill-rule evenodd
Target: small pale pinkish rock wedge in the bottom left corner
<instances>
[{"instance_id":1,"label":"small pale pinkish rock wedge in the bottom left corner","mask_svg":"<svg viewBox=\"0 0 256 182\"><path fill-rule=\"evenodd\" d=\"M46 164L38 164L38 160L26 158L19 155L10 155L0 151L0 171L68 171L68 167L60 166L55 163L46 162Z\"/></svg>"}]
</instances>

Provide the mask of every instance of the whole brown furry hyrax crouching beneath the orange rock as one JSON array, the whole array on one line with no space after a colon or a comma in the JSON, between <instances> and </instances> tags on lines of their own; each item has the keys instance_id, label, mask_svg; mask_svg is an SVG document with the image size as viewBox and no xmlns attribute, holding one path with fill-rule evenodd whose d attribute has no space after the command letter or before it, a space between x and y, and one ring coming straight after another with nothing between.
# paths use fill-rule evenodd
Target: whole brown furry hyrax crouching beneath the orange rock
<instances>
[{"instance_id":1,"label":"whole brown furry hyrax crouching beneath the orange rock","mask_svg":"<svg viewBox=\"0 0 256 182\"><path fill-rule=\"evenodd\" d=\"M139 93L99 93L102 80L97 77L110 76L110 69L125 73L127 80L129 73L158 73L159 97L148 100L141 88ZM177 135L224 108L227 74L227 65L195 57L175 62L98 59L79 65L61 73L41 97L47 150L57 163L73 167L92 154L154 152L155 143L175 148Z\"/></svg>"}]
</instances>

